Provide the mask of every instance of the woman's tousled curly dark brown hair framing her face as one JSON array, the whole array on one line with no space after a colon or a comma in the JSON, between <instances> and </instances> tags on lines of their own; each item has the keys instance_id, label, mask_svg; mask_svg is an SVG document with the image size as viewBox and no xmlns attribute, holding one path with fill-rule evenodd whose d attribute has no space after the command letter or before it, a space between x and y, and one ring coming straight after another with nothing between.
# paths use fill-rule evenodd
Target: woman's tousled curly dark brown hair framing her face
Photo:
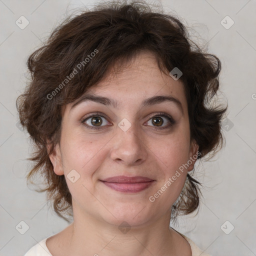
<instances>
[{"instance_id":1,"label":"woman's tousled curly dark brown hair framing her face","mask_svg":"<svg viewBox=\"0 0 256 256\"><path fill-rule=\"evenodd\" d=\"M118 62L121 68L142 50L154 53L159 69L167 75L174 67L182 71L190 138L199 146L198 158L209 152L215 154L222 147L220 121L227 106L211 104L219 87L220 60L198 47L177 17L162 10L155 12L143 0L104 2L74 17L70 15L28 57L31 79L16 101L20 123L35 146L28 158L34 165L27 181L41 174L46 186L40 191L47 192L54 211L68 222L64 213L72 216L71 194L64 175L54 173L49 158L60 139L63 106L104 79L111 66ZM79 71L69 79L77 66ZM180 196L172 205L172 218L199 206L198 185L201 183L187 174Z\"/></svg>"}]
</instances>

